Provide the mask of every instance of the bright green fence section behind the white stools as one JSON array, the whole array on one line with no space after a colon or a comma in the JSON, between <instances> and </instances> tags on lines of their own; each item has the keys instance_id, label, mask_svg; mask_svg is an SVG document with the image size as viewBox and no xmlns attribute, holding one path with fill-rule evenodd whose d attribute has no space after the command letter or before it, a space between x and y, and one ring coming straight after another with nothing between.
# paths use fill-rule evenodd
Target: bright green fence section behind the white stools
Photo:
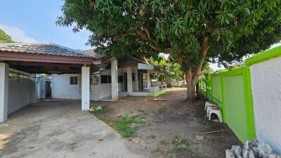
<instances>
[{"instance_id":1,"label":"bright green fence section behind the white stools","mask_svg":"<svg viewBox=\"0 0 281 158\"><path fill-rule=\"evenodd\" d=\"M204 89L204 81L207 84ZM205 98L217 103L223 112L223 122L244 143L255 138L254 112L251 98L249 67L242 67L202 79Z\"/></svg>"}]
</instances>

